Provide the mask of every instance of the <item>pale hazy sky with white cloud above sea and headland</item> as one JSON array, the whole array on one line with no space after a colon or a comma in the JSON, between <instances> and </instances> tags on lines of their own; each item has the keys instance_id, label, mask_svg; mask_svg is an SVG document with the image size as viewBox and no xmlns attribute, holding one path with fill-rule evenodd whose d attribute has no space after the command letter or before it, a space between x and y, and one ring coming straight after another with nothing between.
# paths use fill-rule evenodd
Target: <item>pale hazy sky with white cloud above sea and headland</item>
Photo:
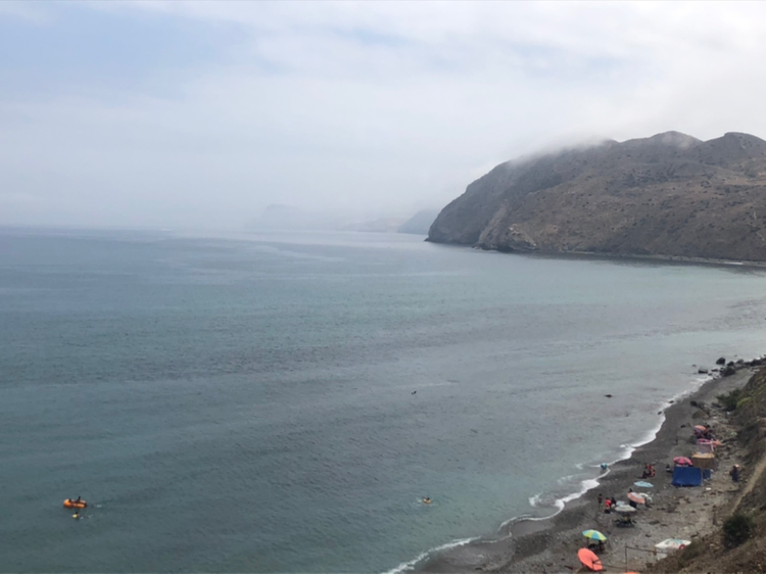
<instances>
[{"instance_id":1,"label":"pale hazy sky with white cloud above sea and headland","mask_svg":"<svg viewBox=\"0 0 766 574\"><path fill-rule=\"evenodd\" d=\"M0 225L441 208L500 162L766 139L759 2L0 2Z\"/></svg>"}]
</instances>

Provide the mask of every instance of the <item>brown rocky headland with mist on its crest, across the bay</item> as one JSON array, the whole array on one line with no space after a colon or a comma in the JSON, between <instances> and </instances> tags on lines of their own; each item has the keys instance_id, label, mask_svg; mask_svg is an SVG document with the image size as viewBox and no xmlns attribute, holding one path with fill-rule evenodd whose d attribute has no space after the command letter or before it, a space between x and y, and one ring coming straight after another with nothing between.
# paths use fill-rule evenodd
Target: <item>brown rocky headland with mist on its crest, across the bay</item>
<instances>
[{"instance_id":1,"label":"brown rocky headland with mist on its crest, across the bay","mask_svg":"<svg viewBox=\"0 0 766 574\"><path fill-rule=\"evenodd\" d=\"M668 132L507 162L447 205L428 240L766 261L766 141Z\"/></svg>"}]
</instances>

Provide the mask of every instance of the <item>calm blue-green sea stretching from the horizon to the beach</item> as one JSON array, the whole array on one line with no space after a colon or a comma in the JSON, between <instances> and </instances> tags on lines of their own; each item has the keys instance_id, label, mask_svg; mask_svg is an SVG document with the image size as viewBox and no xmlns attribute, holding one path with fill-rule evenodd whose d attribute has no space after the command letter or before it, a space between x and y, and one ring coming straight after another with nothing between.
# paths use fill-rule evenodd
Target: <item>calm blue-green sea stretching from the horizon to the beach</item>
<instances>
[{"instance_id":1,"label":"calm blue-green sea stretching from the horizon to the beach","mask_svg":"<svg viewBox=\"0 0 766 574\"><path fill-rule=\"evenodd\" d=\"M3 228L0 571L417 569L593 487L764 327L745 265Z\"/></svg>"}]
</instances>

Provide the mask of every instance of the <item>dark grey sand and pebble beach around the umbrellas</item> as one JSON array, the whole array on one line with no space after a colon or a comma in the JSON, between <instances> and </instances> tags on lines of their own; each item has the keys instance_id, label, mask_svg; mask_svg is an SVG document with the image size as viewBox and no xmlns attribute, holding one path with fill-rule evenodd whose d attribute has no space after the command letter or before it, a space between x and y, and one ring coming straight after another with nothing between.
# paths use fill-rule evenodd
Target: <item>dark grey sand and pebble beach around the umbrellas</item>
<instances>
[{"instance_id":1,"label":"dark grey sand and pebble beach around the umbrellas","mask_svg":"<svg viewBox=\"0 0 766 574\"><path fill-rule=\"evenodd\" d=\"M599 479L599 486L572 500L564 510L546 520L521 520L501 533L501 540L480 540L434 556L421 567L421 572L573 572L581 569L578 549L587 546L583 530L595 529L608 538L601 553L606 572L640 571L661 556L651 550L668 538L695 540L711 532L724 516L741 490L732 484L728 468L741 464L741 449L733 440L735 430L728 414L711 408L715 398L748 382L755 369L743 368L727 377L715 376L696 392L666 409L665 421L653 441L644 444L630 458L611 466ZM696 405L705 405L700 412ZM719 470L702 487L676 488L666 463L677 456L690 456L695 451L692 437L694 425L709 423L717 438L723 441L716 450ZM656 477L649 479L651 489L633 484L641 480L643 465L652 463ZM748 470L745 469L745 477ZM627 500L629 488L651 493L650 508L640 508L635 526L617 526L614 513L604 513L597 497Z\"/></svg>"}]
</instances>

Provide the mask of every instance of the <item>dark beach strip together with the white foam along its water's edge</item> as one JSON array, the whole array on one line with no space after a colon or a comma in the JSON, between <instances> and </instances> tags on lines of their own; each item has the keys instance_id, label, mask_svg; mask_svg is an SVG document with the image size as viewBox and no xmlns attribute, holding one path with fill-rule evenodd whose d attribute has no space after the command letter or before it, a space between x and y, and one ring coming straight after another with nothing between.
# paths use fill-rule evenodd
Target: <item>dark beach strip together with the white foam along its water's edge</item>
<instances>
[{"instance_id":1,"label":"dark beach strip together with the white foam along its water's edge","mask_svg":"<svg viewBox=\"0 0 766 574\"><path fill-rule=\"evenodd\" d=\"M595 484L594 486L585 488L579 494L572 493L559 499L564 500L561 509L555 510L547 517L511 518L502 523L493 538L482 537L459 546L446 548L450 545L444 545L440 549L432 549L424 553L425 556L421 555L424 557L417 562L410 561L408 564L411 566L408 568L403 568L403 564L396 571L414 570L439 574L470 571L567 572L574 571L580 566L575 555L577 549L584 546L584 539L581 537L582 530L596 528L607 534L612 543L624 544L625 546L631 546L631 542L633 546L647 546L650 538L652 543L658 543L665 538L683 537L675 532L675 530L679 530L677 526L666 524L673 522L673 520L667 520L667 516L660 515L660 512L663 508L673 507L675 509L672 501L668 505L668 501L673 498L673 495L686 497L688 500L687 495L701 494L700 492L692 493L692 490L700 491L702 489L671 487L669 475L666 475L664 471L664 465L671 462L676 456L688 456L690 454L692 444L685 439L688 439L690 428L694 424L699 424L699 421L695 421L693 418L697 409L692 405L692 402L710 405L715 402L717 395L744 386L756 370L748 363L745 363L745 366L739 368L732 376L724 377L720 373L713 373L697 389L669 399L668 405L663 408L663 421L653 437L643 444L630 447L630 454L626 458L611 463L606 473L591 479ZM715 412L715 415L711 412L711 415L712 421L718 421L720 418L720 412ZM717 426L720 425L717 424ZM641 527L615 530L611 526L611 520L609 520L612 517L598 511L597 495L603 493L606 497L615 496L618 499L624 499L628 488L633 487L633 483L640 480L643 464L646 462L653 463L658 469L656 477L651 479L651 482L655 484L651 490L654 498L653 506L657 510L640 510L639 526ZM725 468L725 464L720 467L720 469L723 468ZM714 479L716 482L723 480L722 484L725 485L725 472L719 470L714 473ZM584 487L585 483L591 482L591 480L583 481ZM720 493L722 488L719 484L715 492ZM710 491L711 488L708 488L708 490L702 490L702 493L709 493ZM567 498L570 500L566 500ZM707 498L712 500L712 497ZM715 509L720 507L722 501L716 500L716 503L712 504L710 500L700 503L700 508L692 510L692 512L700 516L705 514L706 522L712 528L712 525L715 524L715 516L708 515L715 513ZM668 513L673 511L667 510ZM647 519L644 516L650 517L652 514L656 514L656 518ZM653 525L645 524L647 522L653 523ZM700 529L704 530L704 525L705 521L702 521L702 525L698 527L695 535L702 533ZM647 526L650 527L647 528ZM667 536L658 537L660 531L663 530L660 526L666 526L669 530L675 528L675 530ZM657 536L653 536L652 531L656 531ZM689 536L692 535L689 534ZM627 548L625 554L626 556L628 554ZM608 553L602 558L604 565L607 566ZM631 568L639 569L646 563L647 558L641 561L640 556L633 557L633 562L640 564L639 566L631 566Z\"/></svg>"}]
</instances>

